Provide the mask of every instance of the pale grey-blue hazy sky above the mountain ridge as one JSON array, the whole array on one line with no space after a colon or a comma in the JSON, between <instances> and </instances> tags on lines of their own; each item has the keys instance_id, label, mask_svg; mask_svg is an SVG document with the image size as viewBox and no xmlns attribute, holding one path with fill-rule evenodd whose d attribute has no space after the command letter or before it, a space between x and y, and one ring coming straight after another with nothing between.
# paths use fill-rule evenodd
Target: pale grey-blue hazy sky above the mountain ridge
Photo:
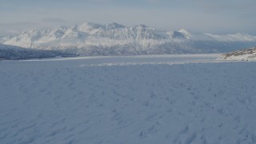
<instances>
[{"instance_id":1,"label":"pale grey-blue hazy sky above the mountain ridge","mask_svg":"<svg viewBox=\"0 0 256 144\"><path fill-rule=\"evenodd\" d=\"M0 0L0 36L82 22L256 35L256 0Z\"/></svg>"}]
</instances>

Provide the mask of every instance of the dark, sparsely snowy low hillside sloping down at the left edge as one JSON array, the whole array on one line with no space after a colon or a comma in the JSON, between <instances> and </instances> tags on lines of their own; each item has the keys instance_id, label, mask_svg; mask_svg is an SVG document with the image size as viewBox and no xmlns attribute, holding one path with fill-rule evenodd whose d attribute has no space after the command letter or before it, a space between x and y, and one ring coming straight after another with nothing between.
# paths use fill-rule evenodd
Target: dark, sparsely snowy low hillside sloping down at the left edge
<instances>
[{"instance_id":1,"label":"dark, sparsely snowy low hillside sloping down at the left edge","mask_svg":"<svg viewBox=\"0 0 256 144\"><path fill-rule=\"evenodd\" d=\"M54 58L57 56L72 57L75 55L53 50L25 49L18 46L8 46L0 44L0 61L10 59L17 60L30 58Z\"/></svg>"}]
</instances>

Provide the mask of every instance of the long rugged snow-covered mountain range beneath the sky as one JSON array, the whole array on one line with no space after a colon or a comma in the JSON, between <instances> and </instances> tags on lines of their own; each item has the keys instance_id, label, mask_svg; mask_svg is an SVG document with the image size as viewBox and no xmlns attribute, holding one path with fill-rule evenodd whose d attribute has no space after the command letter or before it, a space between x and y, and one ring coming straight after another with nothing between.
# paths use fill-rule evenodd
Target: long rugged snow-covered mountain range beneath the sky
<instances>
[{"instance_id":1,"label":"long rugged snow-covered mountain range beneath the sky","mask_svg":"<svg viewBox=\"0 0 256 144\"><path fill-rule=\"evenodd\" d=\"M188 30L157 30L145 25L101 25L86 22L30 30L4 38L3 44L83 55L202 54L229 52L256 45L249 34L192 34Z\"/></svg>"}]
</instances>

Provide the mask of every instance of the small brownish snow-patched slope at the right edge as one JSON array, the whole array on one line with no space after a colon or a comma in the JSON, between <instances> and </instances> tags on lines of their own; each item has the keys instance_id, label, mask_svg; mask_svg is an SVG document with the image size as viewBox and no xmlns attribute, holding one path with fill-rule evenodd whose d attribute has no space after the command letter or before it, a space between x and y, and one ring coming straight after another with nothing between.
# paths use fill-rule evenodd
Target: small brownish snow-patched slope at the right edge
<instances>
[{"instance_id":1,"label":"small brownish snow-patched slope at the right edge","mask_svg":"<svg viewBox=\"0 0 256 144\"><path fill-rule=\"evenodd\" d=\"M238 50L228 54L223 54L219 60L231 60L231 61L251 61L256 60L256 47Z\"/></svg>"}]
</instances>

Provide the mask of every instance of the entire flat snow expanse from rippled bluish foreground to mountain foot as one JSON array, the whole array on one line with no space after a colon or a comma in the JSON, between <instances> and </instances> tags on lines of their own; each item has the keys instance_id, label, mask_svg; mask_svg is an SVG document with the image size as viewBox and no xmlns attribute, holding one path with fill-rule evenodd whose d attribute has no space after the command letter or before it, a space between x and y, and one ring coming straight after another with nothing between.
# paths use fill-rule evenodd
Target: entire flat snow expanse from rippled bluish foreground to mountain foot
<instances>
[{"instance_id":1,"label":"entire flat snow expanse from rippled bluish foreground to mountain foot","mask_svg":"<svg viewBox=\"0 0 256 144\"><path fill-rule=\"evenodd\" d=\"M256 62L0 62L0 143L256 143Z\"/></svg>"}]
</instances>

